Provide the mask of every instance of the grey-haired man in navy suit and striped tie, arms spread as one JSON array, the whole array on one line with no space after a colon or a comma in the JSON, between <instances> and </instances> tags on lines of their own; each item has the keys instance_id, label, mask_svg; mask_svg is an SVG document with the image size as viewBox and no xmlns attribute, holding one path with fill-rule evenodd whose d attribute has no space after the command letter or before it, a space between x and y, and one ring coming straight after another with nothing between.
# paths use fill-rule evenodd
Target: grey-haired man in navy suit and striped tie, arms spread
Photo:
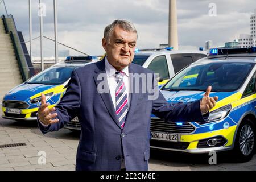
<instances>
[{"instance_id":1,"label":"grey-haired man in navy suit and striped tie, arms spread","mask_svg":"<svg viewBox=\"0 0 256 182\"><path fill-rule=\"evenodd\" d=\"M79 118L76 170L147 170L151 113L166 122L204 122L216 104L210 86L199 101L168 103L158 93L154 72L131 63L136 43L134 25L115 20L104 31L105 59L73 71L67 92L52 109L42 94L38 123L43 134Z\"/></svg>"}]
</instances>

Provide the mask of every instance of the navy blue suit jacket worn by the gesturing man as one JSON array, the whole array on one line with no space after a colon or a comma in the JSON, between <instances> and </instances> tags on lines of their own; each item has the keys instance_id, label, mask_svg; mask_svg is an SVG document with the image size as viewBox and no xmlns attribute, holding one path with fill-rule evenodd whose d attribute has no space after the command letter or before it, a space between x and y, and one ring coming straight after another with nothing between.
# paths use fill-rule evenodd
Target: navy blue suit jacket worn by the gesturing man
<instances>
[{"instance_id":1,"label":"navy blue suit jacket worn by the gesturing man","mask_svg":"<svg viewBox=\"0 0 256 182\"><path fill-rule=\"evenodd\" d=\"M39 127L43 134L57 131L72 118L79 118L81 135L77 148L76 170L119 170L125 157L126 170L147 170L150 158L151 113L165 121L205 121L200 100L188 104L170 104L159 92L156 100L148 100L150 93L132 93L130 109L124 128L115 116L110 93L98 93L97 79L105 72L105 61L81 67L72 72L67 92L56 106L59 123ZM150 73L139 65L130 64L129 73ZM105 77L106 79L106 77ZM158 88L154 78L152 89ZM142 87L142 82L139 82Z\"/></svg>"}]
</instances>

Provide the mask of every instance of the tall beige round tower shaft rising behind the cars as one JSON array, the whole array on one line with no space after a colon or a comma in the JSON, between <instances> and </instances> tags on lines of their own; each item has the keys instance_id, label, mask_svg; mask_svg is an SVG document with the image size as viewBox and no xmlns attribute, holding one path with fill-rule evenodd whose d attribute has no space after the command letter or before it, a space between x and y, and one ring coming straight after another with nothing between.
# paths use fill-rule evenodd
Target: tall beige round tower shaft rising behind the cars
<instances>
[{"instance_id":1,"label":"tall beige round tower shaft rising behind the cars","mask_svg":"<svg viewBox=\"0 0 256 182\"><path fill-rule=\"evenodd\" d=\"M169 41L170 47L179 50L179 40L177 35L177 3L176 0L169 0Z\"/></svg>"}]
</instances>

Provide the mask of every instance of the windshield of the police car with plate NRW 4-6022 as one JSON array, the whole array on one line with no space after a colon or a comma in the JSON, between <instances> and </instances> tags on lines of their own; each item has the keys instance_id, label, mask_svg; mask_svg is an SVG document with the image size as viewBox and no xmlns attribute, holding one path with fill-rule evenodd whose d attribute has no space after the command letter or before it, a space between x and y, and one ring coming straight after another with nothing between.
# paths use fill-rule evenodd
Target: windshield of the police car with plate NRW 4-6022
<instances>
[{"instance_id":1,"label":"windshield of the police car with plate NRW 4-6022","mask_svg":"<svg viewBox=\"0 0 256 182\"><path fill-rule=\"evenodd\" d=\"M253 63L208 63L185 68L162 90L202 90L212 86L212 92L231 92L241 87L253 68Z\"/></svg>"}]
</instances>

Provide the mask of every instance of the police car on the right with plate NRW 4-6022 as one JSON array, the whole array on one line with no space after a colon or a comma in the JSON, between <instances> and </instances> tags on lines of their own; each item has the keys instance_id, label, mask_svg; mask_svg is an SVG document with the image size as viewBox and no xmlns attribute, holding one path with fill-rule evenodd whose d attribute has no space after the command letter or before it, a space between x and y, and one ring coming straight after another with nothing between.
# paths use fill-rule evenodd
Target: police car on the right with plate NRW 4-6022
<instances>
[{"instance_id":1,"label":"police car on the right with plate NRW 4-6022","mask_svg":"<svg viewBox=\"0 0 256 182\"><path fill-rule=\"evenodd\" d=\"M218 96L207 122L164 122L151 117L151 148L207 153L232 151L247 161L255 153L256 136L256 48L216 48L181 70L162 88L168 102L193 102Z\"/></svg>"}]
</instances>

